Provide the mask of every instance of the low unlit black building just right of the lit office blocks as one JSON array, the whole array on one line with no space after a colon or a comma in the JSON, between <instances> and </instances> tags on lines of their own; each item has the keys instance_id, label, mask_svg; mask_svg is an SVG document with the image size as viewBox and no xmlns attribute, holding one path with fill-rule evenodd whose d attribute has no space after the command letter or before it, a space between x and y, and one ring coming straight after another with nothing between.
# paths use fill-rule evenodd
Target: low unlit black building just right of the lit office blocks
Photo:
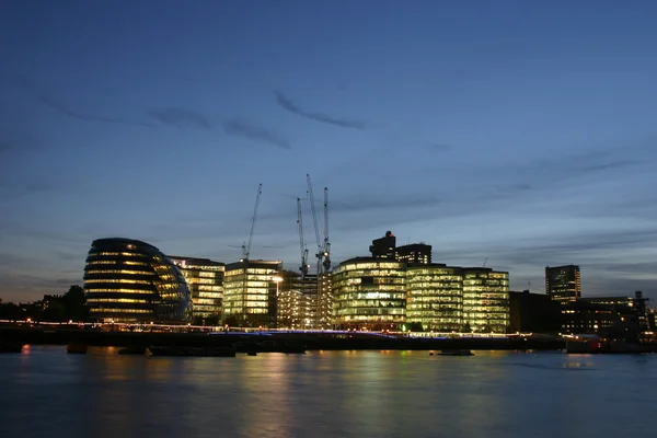
<instances>
[{"instance_id":1,"label":"low unlit black building just right of the lit office blocks","mask_svg":"<svg viewBox=\"0 0 657 438\"><path fill-rule=\"evenodd\" d=\"M510 291L509 310L511 332L561 332L561 306L544 293Z\"/></svg>"}]
</instances>

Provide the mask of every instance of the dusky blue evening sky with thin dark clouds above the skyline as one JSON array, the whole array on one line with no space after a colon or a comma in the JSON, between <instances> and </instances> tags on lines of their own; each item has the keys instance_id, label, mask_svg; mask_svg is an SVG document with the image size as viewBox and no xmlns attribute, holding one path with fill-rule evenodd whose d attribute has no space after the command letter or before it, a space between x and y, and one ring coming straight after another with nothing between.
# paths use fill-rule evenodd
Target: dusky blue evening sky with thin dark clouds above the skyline
<instances>
[{"instance_id":1,"label":"dusky blue evening sky with thin dark clouds above the skyline","mask_svg":"<svg viewBox=\"0 0 657 438\"><path fill-rule=\"evenodd\" d=\"M297 269L310 173L336 263L392 230L516 290L573 263L585 295L657 299L655 22L641 0L3 2L0 297L81 284L101 237L237 261L258 183L251 256Z\"/></svg>"}]
</instances>

